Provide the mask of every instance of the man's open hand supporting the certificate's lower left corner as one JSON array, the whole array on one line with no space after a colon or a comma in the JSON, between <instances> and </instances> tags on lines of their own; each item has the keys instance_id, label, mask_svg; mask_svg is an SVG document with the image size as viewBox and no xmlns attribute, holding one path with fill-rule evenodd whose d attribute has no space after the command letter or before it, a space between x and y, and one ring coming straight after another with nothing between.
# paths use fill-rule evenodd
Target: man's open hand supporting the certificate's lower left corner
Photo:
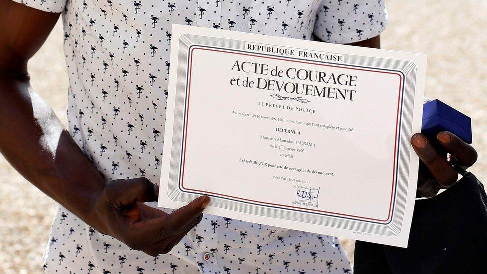
<instances>
[{"instance_id":1,"label":"man's open hand supporting the certificate's lower left corner","mask_svg":"<svg viewBox=\"0 0 487 274\"><path fill-rule=\"evenodd\" d=\"M201 196L168 214L145 205L157 201L159 187L146 178L113 180L98 196L98 229L151 256L168 253L202 219L210 202Z\"/></svg>"}]
</instances>

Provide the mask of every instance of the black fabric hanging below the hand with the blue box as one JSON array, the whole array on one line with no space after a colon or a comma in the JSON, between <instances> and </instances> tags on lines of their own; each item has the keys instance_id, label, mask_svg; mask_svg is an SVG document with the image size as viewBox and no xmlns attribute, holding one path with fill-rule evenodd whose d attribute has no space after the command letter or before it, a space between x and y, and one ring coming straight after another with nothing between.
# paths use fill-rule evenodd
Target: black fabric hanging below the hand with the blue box
<instances>
[{"instance_id":1,"label":"black fabric hanging below the hand with the blue box","mask_svg":"<svg viewBox=\"0 0 487 274\"><path fill-rule=\"evenodd\" d=\"M487 197L472 173L414 206L408 248L357 241L355 274L487 274Z\"/></svg>"}]
</instances>

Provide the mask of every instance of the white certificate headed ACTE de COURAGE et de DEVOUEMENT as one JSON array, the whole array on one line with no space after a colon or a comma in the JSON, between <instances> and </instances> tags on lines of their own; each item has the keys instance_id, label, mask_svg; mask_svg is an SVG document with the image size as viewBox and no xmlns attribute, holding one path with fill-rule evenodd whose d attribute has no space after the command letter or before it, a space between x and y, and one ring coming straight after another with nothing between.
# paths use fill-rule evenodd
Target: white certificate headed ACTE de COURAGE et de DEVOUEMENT
<instances>
[{"instance_id":1,"label":"white certificate headed ACTE de COURAGE et de DEVOUEMENT","mask_svg":"<svg viewBox=\"0 0 487 274\"><path fill-rule=\"evenodd\" d=\"M407 247L426 55L173 25L160 207Z\"/></svg>"}]
</instances>

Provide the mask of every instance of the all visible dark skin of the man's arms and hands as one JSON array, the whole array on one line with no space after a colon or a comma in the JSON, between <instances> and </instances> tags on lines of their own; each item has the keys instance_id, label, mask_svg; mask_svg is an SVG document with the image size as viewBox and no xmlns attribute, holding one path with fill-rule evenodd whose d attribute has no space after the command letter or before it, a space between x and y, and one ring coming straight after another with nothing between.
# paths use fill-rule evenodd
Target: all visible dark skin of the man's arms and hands
<instances>
[{"instance_id":1,"label":"all visible dark skin of the man's arms and hands","mask_svg":"<svg viewBox=\"0 0 487 274\"><path fill-rule=\"evenodd\" d=\"M200 222L210 198L199 197L167 214L144 204L158 195L148 179L106 183L29 83L27 62L59 13L0 0L0 18L1 153L27 180L101 233L152 256L169 252ZM351 45L378 48L380 38ZM411 142L426 167L418 180L420 196L434 195L457 181L458 172L445 152L463 167L477 159L476 151L451 133L440 133L435 140L415 134Z\"/></svg>"}]
</instances>

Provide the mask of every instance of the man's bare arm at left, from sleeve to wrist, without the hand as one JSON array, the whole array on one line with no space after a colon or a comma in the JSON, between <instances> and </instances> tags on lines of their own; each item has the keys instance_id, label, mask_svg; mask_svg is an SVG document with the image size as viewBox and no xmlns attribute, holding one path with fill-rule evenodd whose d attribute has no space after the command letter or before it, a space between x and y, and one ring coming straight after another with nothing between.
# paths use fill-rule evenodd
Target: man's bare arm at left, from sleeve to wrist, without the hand
<instances>
[{"instance_id":1,"label":"man's bare arm at left, from sleeve to wrist, without the hand","mask_svg":"<svg viewBox=\"0 0 487 274\"><path fill-rule=\"evenodd\" d=\"M0 151L27 180L86 220L93 209L73 203L93 205L105 182L32 89L27 73L27 61L59 14L2 0L0 17Z\"/></svg>"}]
</instances>

